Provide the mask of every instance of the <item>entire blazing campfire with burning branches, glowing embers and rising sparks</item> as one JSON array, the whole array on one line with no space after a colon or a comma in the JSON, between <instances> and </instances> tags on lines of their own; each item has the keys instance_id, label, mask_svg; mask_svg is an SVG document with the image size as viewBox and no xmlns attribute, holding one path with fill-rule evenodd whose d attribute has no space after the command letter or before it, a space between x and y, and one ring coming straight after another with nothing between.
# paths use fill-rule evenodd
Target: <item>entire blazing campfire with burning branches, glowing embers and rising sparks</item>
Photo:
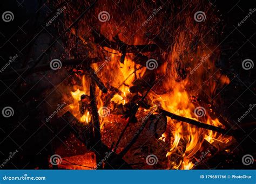
<instances>
[{"instance_id":1,"label":"entire blazing campfire with burning branches, glowing embers and rising sparks","mask_svg":"<svg viewBox=\"0 0 256 184\"><path fill-rule=\"evenodd\" d=\"M58 114L72 120L87 151L64 156L59 167L196 169L218 152L228 154L234 139L218 108L230 80L214 64L220 52L214 7L88 4L64 12L66 26L77 24L67 39L70 58L62 61L72 75L62 85L67 105Z\"/></svg>"}]
</instances>

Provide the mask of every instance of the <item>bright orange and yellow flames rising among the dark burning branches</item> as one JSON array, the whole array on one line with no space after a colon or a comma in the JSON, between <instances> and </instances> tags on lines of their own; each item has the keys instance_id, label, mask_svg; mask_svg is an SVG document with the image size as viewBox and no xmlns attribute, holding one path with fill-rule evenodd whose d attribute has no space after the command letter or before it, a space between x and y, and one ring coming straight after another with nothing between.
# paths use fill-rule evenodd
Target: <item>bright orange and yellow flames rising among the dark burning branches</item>
<instances>
[{"instance_id":1,"label":"bright orange and yellow flames rising among the dark burning branches","mask_svg":"<svg viewBox=\"0 0 256 184\"><path fill-rule=\"evenodd\" d=\"M130 2L127 0L123 1L126 3L128 2L127 4ZM184 2L186 4L186 1ZM200 4L198 2L200 1L190 2L192 4L194 3L191 7L197 7L197 4ZM100 33L105 36L119 35L120 40L131 45L151 44L150 41L142 37L145 32L149 30L153 31L154 34L159 34L159 36L164 37L161 35L162 28L158 27L158 23L163 23L164 25L164 22L166 21L166 13L164 14L164 10L159 12L157 15L158 17L151 19L149 24L140 27L138 30L137 26L141 24L141 20L146 20L148 18L148 13L144 13L143 11L134 11L132 15L127 13L127 17L125 21L123 21L123 18L125 17L121 16L122 18L120 18L120 16L118 16L118 10L112 9L112 6L105 6L107 4L110 3L108 3L107 0L104 0L97 8L97 10L106 9L112 13L109 22L101 24L100 26ZM130 3L130 5L132 7L133 5L136 5L136 3ZM145 3L143 3L143 6L146 6ZM126 8L129 9L130 6ZM144 9L147 10L150 8ZM209 11L210 10L211 9L209 8ZM185 11L187 11L186 16L184 16ZM154 70L159 77L163 77L163 80L160 81L149 94L147 94L146 101L152 106L160 103L161 108L170 111L173 114L225 128L218 118L213 117L213 114L211 113L212 109L210 109L208 105L209 102L206 102L208 99L213 100L213 98L215 98L217 88L221 88L230 82L227 76L222 75L219 70L215 68L214 62L218 59L219 53L218 47L215 47L217 44L198 44L194 49L195 51L191 51L190 47L193 45L191 43L193 42L193 39L195 39L194 36L204 36L208 34L208 29L206 29L204 24L197 24L194 22L190 9L184 9L184 13L180 13L177 16L174 16L174 12L172 13L170 13L170 20L176 19L178 20L178 23L182 22L183 24L174 24L178 25L177 27L171 27L170 25L167 29L167 32L174 30L173 35L170 38L166 38L167 41L171 40L169 44L171 49L169 52L158 53L158 55L162 57L164 63L162 63L162 65L159 63L159 67ZM210 16L210 13L211 12L208 12L206 21L208 20L209 22L212 22L212 24L215 24L214 20L217 18L214 15ZM95 17L97 17L97 15L95 15ZM114 17L116 19L114 19ZM122 21L119 19L122 19ZM116 29L118 20L119 22L124 22L124 27L120 28L122 30ZM84 26L81 27L84 29L86 29L86 27L91 27L87 26L87 24L89 23L83 22L82 25ZM125 24L127 24L126 27ZM152 27L156 27L156 29L153 29ZM126 34L120 34L120 31L123 31L124 28ZM83 29L79 31L82 33L90 32L89 30ZM166 35L168 34L166 33ZM203 39L203 36L201 36L200 39ZM208 40L209 42L211 41L211 39ZM84 39L83 41L85 42ZM116 104L124 105L130 102L132 97L134 97L135 94L130 93L129 88L133 86L133 82L136 78L142 79L146 72L146 67L140 66L132 61L131 58L134 56L133 54L127 53L124 63L121 63L121 53L107 47L104 47L103 49L104 55L106 55L107 52L110 59L103 60L99 63L92 63L91 67L96 71L97 76L104 84L106 84L106 86L111 86L121 91L121 93L114 94L111 97L111 101ZM149 53L145 53L145 55L149 56L149 58L152 56ZM187 74L184 79L181 79L180 77L179 65L181 65L181 68L184 68L185 73ZM84 115L80 115L79 101L81 95L89 95L89 83L90 81L85 80L85 76L83 76L82 86L79 86L79 89L77 88L74 92L71 92L73 102L69 106L72 114L79 119L79 121L84 123L89 123L91 121L91 115L90 112L85 112ZM103 107L106 95L107 94L103 94L102 91L97 89L98 108ZM191 100L192 96L204 97L206 98L206 101L193 101ZM194 114L194 109L197 107L203 107L205 109L202 117L198 117ZM140 110L141 109L142 108L140 108ZM139 112L140 111L138 111L138 113ZM107 118L105 118L102 123L106 121ZM220 133L210 130L199 129L196 126L178 122L169 117L167 118L167 129L170 129L171 132L166 131L162 137L159 138L170 144L170 149L166 153L166 157L169 159L174 154L177 154L182 158L177 161L169 159L168 168L172 169L193 168L194 155L202 148L204 141L208 141L208 143L213 146L216 145L216 147L219 148L217 145L220 143L225 144L232 140L232 137L223 136Z\"/></svg>"}]
</instances>

